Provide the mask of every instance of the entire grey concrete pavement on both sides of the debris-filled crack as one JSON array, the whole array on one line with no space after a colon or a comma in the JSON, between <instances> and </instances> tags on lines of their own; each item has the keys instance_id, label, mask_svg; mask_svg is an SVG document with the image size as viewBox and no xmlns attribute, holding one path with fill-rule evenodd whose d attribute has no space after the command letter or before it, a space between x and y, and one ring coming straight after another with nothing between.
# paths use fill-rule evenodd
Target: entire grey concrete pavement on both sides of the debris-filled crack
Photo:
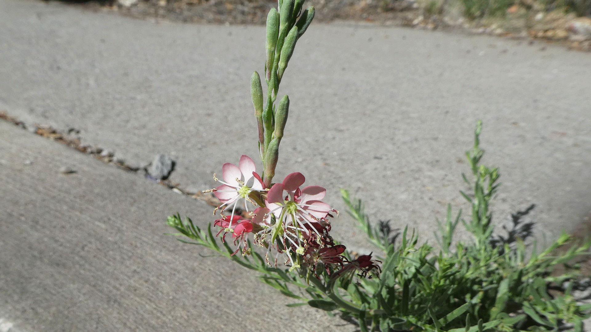
<instances>
[{"instance_id":1,"label":"entire grey concrete pavement on both sides of the debris-filled crack","mask_svg":"<svg viewBox=\"0 0 591 332\"><path fill-rule=\"evenodd\" d=\"M183 187L213 187L223 162L256 159L249 77L262 71L263 27L1 0L0 31L0 109L11 115L78 129L132 163L170 154ZM372 220L429 240L446 204L463 206L463 153L482 119L485 162L502 174L496 222L535 203L539 239L574 229L591 209L591 57L540 46L312 25L280 91L291 110L276 180L300 171L339 210L348 188ZM0 318L30 331L277 330L284 319L294 331L343 329L264 300L275 293L252 274L161 236L168 214L206 224L209 207L4 123L0 137ZM372 250L352 227L342 213L333 236ZM264 322L241 326L245 308Z\"/></svg>"}]
</instances>

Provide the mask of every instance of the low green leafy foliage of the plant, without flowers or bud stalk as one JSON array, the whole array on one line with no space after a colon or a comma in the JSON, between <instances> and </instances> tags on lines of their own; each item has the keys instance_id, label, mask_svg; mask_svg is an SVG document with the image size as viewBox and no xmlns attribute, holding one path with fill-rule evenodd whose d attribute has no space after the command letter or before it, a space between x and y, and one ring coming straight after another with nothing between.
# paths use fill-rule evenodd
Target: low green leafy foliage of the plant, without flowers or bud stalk
<instances>
[{"instance_id":1,"label":"low green leafy foliage of the plant, without flowers or bud stalk","mask_svg":"<svg viewBox=\"0 0 591 332\"><path fill-rule=\"evenodd\" d=\"M361 200L352 200L342 190L349 214L380 250L375 257L381 261L381 274L371 269L365 275L311 275L305 266L290 272L268 266L254 251L250 259L232 255L234 250L227 243L217 244L211 226L202 230L188 218L182 222L178 215L169 217L168 224L178 235L189 237L189 243L206 246L260 272L262 282L298 300L290 307L308 304L331 315L338 311L363 332L582 331L591 305L580 304L573 296L573 288L580 285L577 266L569 262L586 255L591 242L557 253L570 242L570 236L563 233L541 252L535 242L527 248L525 240L532 235L534 223L524 222L523 217L533 205L512 215L505 235L495 234L489 204L498 190L499 173L479 163L484 152L479 146L480 129L479 123L474 147L466 152L472 178L463 176L473 191L461 192L472 211L463 219L461 211L454 217L448 207L446 220L438 221L439 252L427 243L418 245L418 236L408 229L394 233L388 222L372 226ZM460 223L472 233L472 242L454 243ZM566 266L569 272L551 275L557 265Z\"/></svg>"}]
</instances>

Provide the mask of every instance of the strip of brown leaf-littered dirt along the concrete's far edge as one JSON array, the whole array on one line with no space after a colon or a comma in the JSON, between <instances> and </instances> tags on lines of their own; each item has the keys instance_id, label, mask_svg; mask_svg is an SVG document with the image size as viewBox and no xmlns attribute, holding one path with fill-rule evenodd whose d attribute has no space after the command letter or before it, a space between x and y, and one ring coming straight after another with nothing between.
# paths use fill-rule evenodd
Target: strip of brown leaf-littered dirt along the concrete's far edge
<instances>
[{"instance_id":1,"label":"strip of brown leaf-littered dirt along the concrete's far edge","mask_svg":"<svg viewBox=\"0 0 591 332\"><path fill-rule=\"evenodd\" d=\"M460 1L468 0L307 0L314 6L316 22L337 19L370 22L426 30L454 30L523 40L540 40L573 50L591 51L591 19L577 18L564 8L524 5L524 0L508 6L501 14L465 18ZM562 1L562 0L561 0ZM94 11L116 12L128 17L209 24L264 25L273 0L102 0L72 2ZM529 2L537 4L533 0ZM529 3L528 2L528 3ZM569 30L576 21L574 31ZM588 30L588 31L587 31Z\"/></svg>"}]
</instances>

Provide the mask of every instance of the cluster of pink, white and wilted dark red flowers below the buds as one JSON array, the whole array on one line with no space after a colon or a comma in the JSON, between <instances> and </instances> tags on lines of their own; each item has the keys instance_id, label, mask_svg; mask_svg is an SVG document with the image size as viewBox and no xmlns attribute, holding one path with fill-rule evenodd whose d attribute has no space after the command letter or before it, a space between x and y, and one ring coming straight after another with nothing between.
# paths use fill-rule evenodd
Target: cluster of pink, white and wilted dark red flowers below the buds
<instances>
[{"instance_id":1,"label":"cluster of pink, white and wilted dark red flowers below the buds","mask_svg":"<svg viewBox=\"0 0 591 332\"><path fill-rule=\"evenodd\" d=\"M256 173L254 161L242 155L238 166L223 164L223 180L215 174L214 179L222 185L204 192L213 192L222 203L214 211L214 214L220 211L215 226L220 227L217 235L223 232L222 241L232 233L238 246L233 255L240 251L249 255L248 235L252 234L253 242L267 249L265 257L269 265L277 266L278 256L284 254L285 265L291 266L290 269L305 265L316 271L322 265L331 274L337 267L341 271L343 263L347 263L346 269L355 267L362 271L370 266L349 262L342 255L345 246L336 245L329 235L329 217L338 212L322 201L326 194L323 187L301 188L306 178L300 172L288 174L281 183L267 188Z\"/></svg>"}]
</instances>

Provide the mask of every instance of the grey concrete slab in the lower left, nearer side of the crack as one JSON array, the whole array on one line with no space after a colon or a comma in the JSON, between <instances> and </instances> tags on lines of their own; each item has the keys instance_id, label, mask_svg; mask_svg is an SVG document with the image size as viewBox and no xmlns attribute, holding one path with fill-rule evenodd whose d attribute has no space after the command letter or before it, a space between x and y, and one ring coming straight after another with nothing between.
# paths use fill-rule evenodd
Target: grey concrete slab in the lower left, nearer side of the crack
<instances>
[{"instance_id":1,"label":"grey concrete slab in the lower left, nearer side of the crack","mask_svg":"<svg viewBox=\"0 0 591 332\"><path fill-rule=\"evenodd\" d=\"M209 215L200 201L4 121L0 151L0 318L10 331L354 330L285 307L296 301L255 273L164 235L171 211Z\"/></svg>"}]
</instances>

